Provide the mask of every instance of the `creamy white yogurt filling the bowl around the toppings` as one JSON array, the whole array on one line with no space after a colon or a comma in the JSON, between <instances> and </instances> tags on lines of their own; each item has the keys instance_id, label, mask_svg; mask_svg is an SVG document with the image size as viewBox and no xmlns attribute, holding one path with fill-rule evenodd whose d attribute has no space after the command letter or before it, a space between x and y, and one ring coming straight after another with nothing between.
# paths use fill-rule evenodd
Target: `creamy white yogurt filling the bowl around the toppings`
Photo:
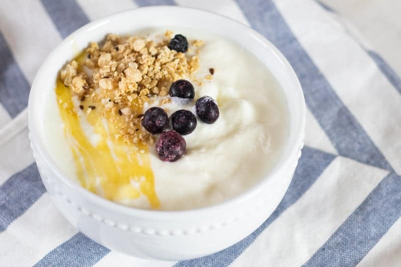
<instances>
[{"instance_id":1,"label":"creamy white yogurt filling the bowl around the toppings","mask_svg":"<svg viewBox=\"0 0 401 267\"><path fill-rule=\"evenodd\" d=\"M135 208L185 210L233 198L266 177L280 157L288 138L289 115L283 92L262 62L246 49L219 36L182 29L174 32L186 36L188 41L204 41L198 54L196 81L193 77L186 77L195 88L195 98L193 101L172 98L166 102L163 101L166 97L155 97L143 105L142 112L158 106L168 115L179 109L187 109L195 114L195 101L207 95L217 101L220 117L214 124L197 120L196 129L183 136L187 153L176 162L161 161L154 145L137 150L139 162L149 161L152 179L146 185L153 187L154 192L151 191L154 198L149 196L149 191L144 193L142 188L138 189L138 195L112 199ZM147 38L157 40L162 33L164 30L154 29L138 35L146 34ZM214 70L213 75L210 69ZM76 140L65 134L66 122L62 113L54 112L61 107L56 92L52 90L46 96L49 110L44 115L47 149L59 167L71 179L82 184L77 176L79 167L76 158L79 157L74 157L71 149ZM84 112L79 110L78 98L72 99L71 105L77 109L83 134L92 145L96 145L104 136L94 131ZM129 150L135 145L125 146ZM135 174L135 166L126 168L132 168ZM85 170L81 172L85 173ZM133 179L127 186L139 188L141 179L146 177ZM99 177L102 178L105 177ZM100 187L93 191L104 196ZM152 205L151 199L156 198L158 204Z\"/></svg>"}]
</instances>

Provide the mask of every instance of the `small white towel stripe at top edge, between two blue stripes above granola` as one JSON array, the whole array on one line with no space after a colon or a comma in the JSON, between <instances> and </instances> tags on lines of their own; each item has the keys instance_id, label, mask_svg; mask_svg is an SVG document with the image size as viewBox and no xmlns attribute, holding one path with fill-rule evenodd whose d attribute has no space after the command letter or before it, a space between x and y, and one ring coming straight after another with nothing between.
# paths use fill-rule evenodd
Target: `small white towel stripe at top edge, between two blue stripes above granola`
<instances>
[{"instance_id":1,"label":"small white towel stripe at top edge, between two blue stripes above granola","mask_svg":"<svg viewBox=\"0 0 401 267\"><path fill-rule=\"evenodd\" d=\"M132 0L77 0L77 3L91 21L137 7Z\"/></svg>"}]
</instances>

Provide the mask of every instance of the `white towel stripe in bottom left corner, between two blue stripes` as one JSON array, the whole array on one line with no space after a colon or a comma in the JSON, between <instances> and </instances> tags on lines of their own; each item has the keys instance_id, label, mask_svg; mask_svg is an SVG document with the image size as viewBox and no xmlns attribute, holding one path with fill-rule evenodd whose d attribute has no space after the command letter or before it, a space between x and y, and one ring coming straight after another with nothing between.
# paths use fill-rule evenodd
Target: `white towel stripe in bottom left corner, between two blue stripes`
<instances>
[{"instance_id":1,"label":"white towel stripe in bottom left corner, between two blue stripes","mask_svg":"<svg viewBox=\"0 0 401 267\"><path fill-rule=\"evenodd\" d=\"M1 261L10 266L32 266L76 233L45 193L0 233Z\"/></svg>"}]
</instances>

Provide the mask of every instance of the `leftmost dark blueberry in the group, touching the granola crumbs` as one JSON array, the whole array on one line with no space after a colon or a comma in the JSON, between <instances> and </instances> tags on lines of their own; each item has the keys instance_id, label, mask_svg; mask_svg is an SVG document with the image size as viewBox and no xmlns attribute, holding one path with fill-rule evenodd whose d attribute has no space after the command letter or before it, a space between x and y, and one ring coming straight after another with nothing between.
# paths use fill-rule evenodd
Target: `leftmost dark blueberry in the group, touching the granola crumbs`
<instances>
[{"instance_id":1,"label":"leftmost dark blueberry in the group, touching the granola crumbs","mask_svg":"<svg viewBox=\"0 0 401 267\"><path fill-rule=\"evenodd\" d=\"M168 126L167 113L159 107L146 110L143 114L142 126L150 133L161 133Z\"/></svg>"}]
</instances>

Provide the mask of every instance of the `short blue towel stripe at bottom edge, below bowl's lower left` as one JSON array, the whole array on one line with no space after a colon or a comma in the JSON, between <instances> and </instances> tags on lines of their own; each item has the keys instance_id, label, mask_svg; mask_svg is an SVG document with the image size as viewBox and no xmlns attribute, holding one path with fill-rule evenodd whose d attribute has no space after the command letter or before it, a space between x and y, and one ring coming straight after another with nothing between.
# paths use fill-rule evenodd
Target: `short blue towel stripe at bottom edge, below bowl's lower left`
<instances>
[{"instance_id":1,"label":"short blue towel stripe at bottom edge, below bowl's lower left","mask_svg":"<svg viewBox=\"0 0 401 267\"><path fill-rule=\"evenodd\" d=\"M34 266L92 266L108 252L110 252L108 248L99 245L83 233L79 232L50 251ZM118 265L117 262L116 265Z\"/></svg>"}]
</instances>

